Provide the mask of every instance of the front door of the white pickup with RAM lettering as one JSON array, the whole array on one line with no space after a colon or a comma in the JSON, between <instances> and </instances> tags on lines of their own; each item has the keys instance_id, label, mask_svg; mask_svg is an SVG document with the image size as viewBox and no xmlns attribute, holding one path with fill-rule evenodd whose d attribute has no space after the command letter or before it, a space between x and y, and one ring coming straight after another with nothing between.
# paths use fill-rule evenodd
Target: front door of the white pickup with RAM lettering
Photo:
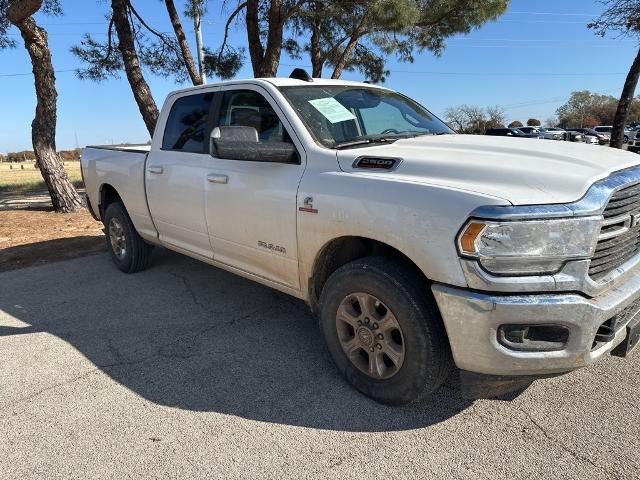
<instances>
[{"instance_id":1,"label":"front door of the white pickup with RAM lettering","mask_svg":"<svg viewBox=\"0 0 640 480\"><path fill-rule=\"evenodd\" d=\"M206 217L214 259L299 288L296 195L304 171L301 145L269 94L257 86L221 92L218 126L246 126L260 142L296 144L300 164L211 158Z\"/></svg>"}]
</instances>

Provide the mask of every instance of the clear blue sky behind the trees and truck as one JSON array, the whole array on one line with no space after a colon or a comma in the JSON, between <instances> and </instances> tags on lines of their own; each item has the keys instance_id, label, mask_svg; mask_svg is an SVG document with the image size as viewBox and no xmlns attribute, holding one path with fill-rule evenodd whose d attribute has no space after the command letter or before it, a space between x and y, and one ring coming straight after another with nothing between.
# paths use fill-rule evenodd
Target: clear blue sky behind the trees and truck
<instances>
[{"instance_id":1,"label":"clear blue sky behind the trees and truck","mask_svg":"<svg viewBox=\"0 0 640 480\"><path fill-rule=\"evenodd\" d=\"M105 38L107 2L61 0L61 4L64 16L36 17L49 32L57 72L58 149L147 141L149 135L124 75L95 83L80 80L74 73L80 63L69 48L83 33ZM134 0L134 5L154 28L171 31L163 3ZM507 13L496 22L449 39L438 58L429 52L417 54L412 64L390 58L391 75L385 86L414 98L439 116L454 105L500 105L509 121L522 122L530 117L546 120L572 91L619 96L637 42L602 39L588 30L586 24L602 10L597 0L512 0ZM225 19L222 2L210 0L203 21L205 45L215 48L220 44ZM193 40L189 21L184 19L183 24ZM17 30L10 33L18 47L0 51L0 153L32 148L30 125L36 102L28 54ZM246 47L242 24L232 32L230 43ZM308 64L304 57L292 60L283 55L278 74L288 76L294 66ZM149 72L146 76L159 107L167 93L189 86ZM251 76L247 54L236 78ZM342 78L363 80L359 72L345 72Z\"/></svg>"}]
</instances>

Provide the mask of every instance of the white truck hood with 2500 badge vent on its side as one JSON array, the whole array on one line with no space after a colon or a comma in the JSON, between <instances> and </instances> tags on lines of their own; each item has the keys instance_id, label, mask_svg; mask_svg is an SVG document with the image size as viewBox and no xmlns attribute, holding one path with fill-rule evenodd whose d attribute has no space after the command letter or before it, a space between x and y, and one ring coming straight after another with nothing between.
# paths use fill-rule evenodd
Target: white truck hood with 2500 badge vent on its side
<instances>
[{"instance_id":1,"label":"white truck hood with 2500 badge vent on its side","mask_svg":"<svg viewBox=\"0 0 640 480\"><path fill-rule=\"evenodd\" d=\"M354 168L362 156L402 159L391 171ZM513 205L569 203L596 181L640 164L636 154L554 140L479 135L421 136L338 151L340 168L362 175L440 185Z\"/></svg>"}]
</instances>

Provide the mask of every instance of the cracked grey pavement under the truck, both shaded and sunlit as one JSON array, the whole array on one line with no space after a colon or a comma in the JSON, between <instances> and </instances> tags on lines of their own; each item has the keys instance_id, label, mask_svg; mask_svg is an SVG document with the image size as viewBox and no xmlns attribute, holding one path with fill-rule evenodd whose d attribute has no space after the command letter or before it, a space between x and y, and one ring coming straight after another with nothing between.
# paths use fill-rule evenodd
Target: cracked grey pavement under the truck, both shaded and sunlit
<instances>
[{"instance_id":1,"label":"cracked grey pavement under the truck, both shaded and sunlit","mask_svg":"<svg viewBox=\"0 0 640 480\"><path fill-rule=\"evenodd\" d=\"M640 355L389 408L305 305L168 252L0 274L2 478L640 478Z\"/></svg>"}]
</instances>

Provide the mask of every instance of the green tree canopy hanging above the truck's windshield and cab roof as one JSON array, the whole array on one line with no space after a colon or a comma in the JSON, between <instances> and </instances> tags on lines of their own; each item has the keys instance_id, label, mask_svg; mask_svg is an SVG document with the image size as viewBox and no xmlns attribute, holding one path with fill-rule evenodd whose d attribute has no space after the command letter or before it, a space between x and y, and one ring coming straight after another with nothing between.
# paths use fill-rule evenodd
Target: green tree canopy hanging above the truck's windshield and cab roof
<instances>
[{"instance_id":1,"label":"green tree canopy hanging above the truck's windshield and cab roof","mask_svg":"<svg viewBox=\"0 0 640 480\"><path fill-rule=\"evenodd\" d=\"M504 13L507 0L309 0L293 18L288 52L308 52L314 77L359 70L374 82L389 74L386 59L413 62L425 50L439 56L445 40ZM307 32L310 35L306 35ZM300 43L299 38L309 41Z\"/></svg>"}]
</instances>

